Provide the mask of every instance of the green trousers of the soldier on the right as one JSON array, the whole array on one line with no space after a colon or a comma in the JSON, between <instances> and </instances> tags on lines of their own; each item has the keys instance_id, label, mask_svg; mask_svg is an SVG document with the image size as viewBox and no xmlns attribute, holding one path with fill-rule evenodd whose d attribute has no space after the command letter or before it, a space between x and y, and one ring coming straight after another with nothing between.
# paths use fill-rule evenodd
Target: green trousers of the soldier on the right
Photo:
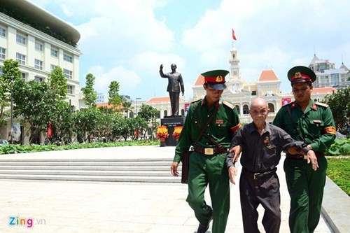
<instances>
[{"instance_id":1,"label":"green trousers of the soldier on the right","mask_svg":"<svg viewBox=\"0 0 350 233\"><path fill-rule=\"evenodd\" d=\"M283 168L290 195L291 233L313 233L321 215L327 160L318 158L317 171L306 160L284 160Z\"/></svg>"}]
</instances>

